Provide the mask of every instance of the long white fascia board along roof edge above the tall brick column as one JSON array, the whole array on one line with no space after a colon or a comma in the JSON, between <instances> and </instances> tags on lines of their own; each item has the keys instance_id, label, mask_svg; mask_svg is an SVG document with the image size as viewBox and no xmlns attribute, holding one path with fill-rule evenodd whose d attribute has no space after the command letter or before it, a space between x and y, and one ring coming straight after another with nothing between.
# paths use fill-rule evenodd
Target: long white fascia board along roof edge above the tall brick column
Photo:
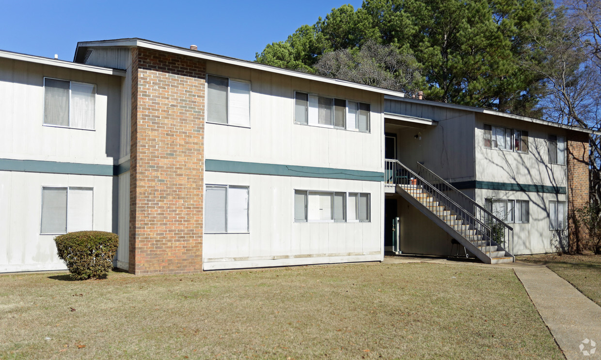
<instances>
[{"instance_id":1,"label":"long white fascia board along roof edge above the tall brick column","mask_svg":"<svg viewBox=\"0 0 601 360\"><path fill-rule=\"evenodd\" d=\"M222 64L236 65L239 67L251 68L254 70L267 71L269 73L282 74L285 76L298 77L300 79L314 80L322 83L329 83L346 88L359 89L369 92L377 92L379 94L392 95L394 97L403 97L404 93L400 91L392 91L387 89L376 88L375 86L353 83L346 80L334 79L331 77L319 76L314 74L301 73L301 71L279 68L271 65L260 64L258 62L246 61L227 56L215 55L211 53L201 52L198 50L185 49L183 47L171 46L167 44L154 43L153 41L142 39L120 39L106 41L89 41L78 43L79 47L144 47L145 49L157 50L160 52L169 52L178 55L191 56L208 61L221 62ZM77 50L76 50L77 52Z\"/></svg>"}]
</instances>

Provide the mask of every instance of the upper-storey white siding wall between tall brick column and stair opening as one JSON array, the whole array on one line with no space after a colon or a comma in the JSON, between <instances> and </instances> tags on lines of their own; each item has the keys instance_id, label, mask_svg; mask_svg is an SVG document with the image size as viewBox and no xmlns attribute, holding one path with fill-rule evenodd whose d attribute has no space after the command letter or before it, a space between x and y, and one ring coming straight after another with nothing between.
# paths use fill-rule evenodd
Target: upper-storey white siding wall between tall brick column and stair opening
<instances>
[{"instance_id":1,"label":"upper-storey white siding wall between tall brick column and stair opening","mask_svg":"<svg viewBox=\"0 0 601 360\"><path fill-rule=\"evenodd\" d=\"M251 127L206 124L207 159L383 171L382 95L207 63L207 74L251 82ZM294 91L371 105L371 131L294 124Z\"/></svg>"}]
</instances>

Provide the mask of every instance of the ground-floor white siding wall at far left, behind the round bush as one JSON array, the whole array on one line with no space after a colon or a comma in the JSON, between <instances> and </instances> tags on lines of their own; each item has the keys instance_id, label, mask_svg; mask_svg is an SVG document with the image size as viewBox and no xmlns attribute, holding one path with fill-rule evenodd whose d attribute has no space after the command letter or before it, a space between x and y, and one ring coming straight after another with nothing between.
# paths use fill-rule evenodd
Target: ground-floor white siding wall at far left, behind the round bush
<instances>
[{"instance_id":1,"label":"ground-floor white siding wall at far left, behind the round bush","mask_svg":"<svg viewBox=\"0 0 601 360\"><path fill-rule=\"evenodd\" d=\"M93 230L111 231L111 176L0 171L0 272L66 269L40 235L42 186L94 188Z\"/></svg>"}]
</instances>

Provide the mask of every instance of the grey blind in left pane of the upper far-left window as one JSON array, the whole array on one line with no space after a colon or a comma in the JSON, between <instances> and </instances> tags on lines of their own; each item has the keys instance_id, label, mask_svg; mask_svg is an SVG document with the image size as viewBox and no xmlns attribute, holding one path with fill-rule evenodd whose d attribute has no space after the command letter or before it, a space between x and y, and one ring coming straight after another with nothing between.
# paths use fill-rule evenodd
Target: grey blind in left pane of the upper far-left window
<instances>
[{"instance_id":1,"label":"grey blind in left pane of the upper far-left window","mask_svg":"<svg viewBox=\"0 0 601 360\"><path fill-rule=\"evenodd\" d=\"M69 126L69 85L64 80L44 79L44 124Z\"/></svg>"}]
</instances>

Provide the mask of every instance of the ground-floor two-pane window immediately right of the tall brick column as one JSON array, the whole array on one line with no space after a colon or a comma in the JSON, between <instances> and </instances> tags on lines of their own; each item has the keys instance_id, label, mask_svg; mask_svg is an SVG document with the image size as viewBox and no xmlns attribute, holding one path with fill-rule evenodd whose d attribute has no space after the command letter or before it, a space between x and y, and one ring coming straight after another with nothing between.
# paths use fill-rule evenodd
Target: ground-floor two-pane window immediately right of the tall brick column
<instances>
[{"instance_id":1,"label":"ground-floor two-pane window immediately right of the tall brick column","mask_svg":"<svg viewBox=\"0 0 601 360\"><path fill-rule=\"evenodd\" d=\"M207 185L205 233L248 233L248 186Z\"/></svg>"}]
</instances>

